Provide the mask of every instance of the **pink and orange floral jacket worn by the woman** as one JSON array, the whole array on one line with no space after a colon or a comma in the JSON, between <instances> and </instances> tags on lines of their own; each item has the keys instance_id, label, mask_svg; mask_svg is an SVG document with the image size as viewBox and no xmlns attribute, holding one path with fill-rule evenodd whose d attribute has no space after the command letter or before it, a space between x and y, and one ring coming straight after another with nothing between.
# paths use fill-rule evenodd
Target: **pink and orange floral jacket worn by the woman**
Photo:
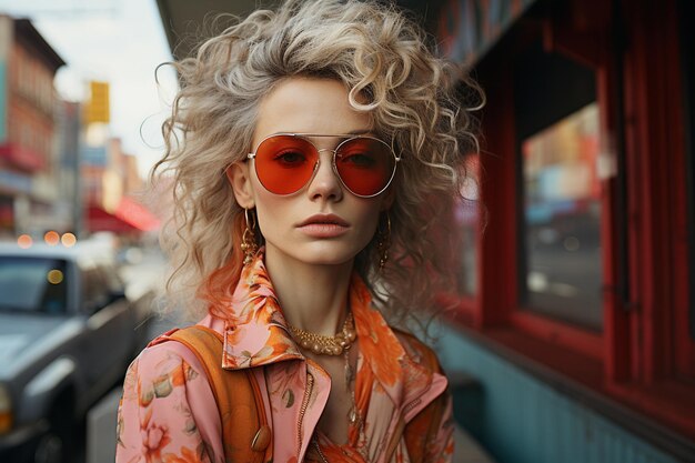
<instances>
[{"instance_id":1,"label":"pink and orange floral jacket worn by the woman","mask_svg":"<svg viewBox=\"0 0 695 463\"><path fill-rule=\"evenodd\" d=\"M199 324L223 335L223 369L253 370L264 392L273 461L302 462L328 401L331 378L302 355L289 334L262 256L242 273L232 305L230 320L209 315ZM421 363L415 348L423 346L413 345L419 341L389 328L356 275L351 281L350 308L360 346L355 390L363 439L354 442L359 457L351 460L348 452L342 456L355 462L407 463L404 437L399 437L391 455L387 443L401 429L400 422L407 423L446 393L446 379ZM367 391L360 394L365 384ZM449 462L453 454L451 397L437 426L426 461ZM153 343L130 365L118 413L115 461L224 462L212 390L198 359L183 344Z\"/></svg>"}]
</instances>

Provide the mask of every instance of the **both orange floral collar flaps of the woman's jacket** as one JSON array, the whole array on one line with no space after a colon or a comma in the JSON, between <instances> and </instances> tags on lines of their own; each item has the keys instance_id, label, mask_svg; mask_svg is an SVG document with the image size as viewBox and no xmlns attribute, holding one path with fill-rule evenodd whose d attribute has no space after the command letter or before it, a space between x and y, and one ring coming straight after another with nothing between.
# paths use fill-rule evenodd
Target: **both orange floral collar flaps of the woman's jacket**
<instances>
[{"instance_id":1,"label":"both orange floral collar flaps of the woman's jacket","mask_svg":"<svg viewBox=\"0 0 695 463\"><path fill-rule=\"evenodd\" d=\"M263 263L263 252L242 271L224 325L222 368L240 370L305 360L289 332ZM350 308L361 354L394 403L407 402L429 389L432 371L406 353L381 312L372 306L371 293L356 272L350 284Z\"/></svg>"}]
</instances>

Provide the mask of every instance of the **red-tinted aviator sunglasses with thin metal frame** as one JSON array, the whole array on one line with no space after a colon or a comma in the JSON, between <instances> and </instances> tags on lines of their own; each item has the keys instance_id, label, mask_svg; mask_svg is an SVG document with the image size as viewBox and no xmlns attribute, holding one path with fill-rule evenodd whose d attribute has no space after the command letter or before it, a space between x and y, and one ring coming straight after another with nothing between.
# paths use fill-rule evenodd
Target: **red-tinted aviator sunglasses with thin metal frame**
<instances>
[{"instance_id":1,"label":"red-tinted aviator sunglasses with thin metal frame","mask_svg":"<svg viewBox=\"0 0 695 463\"><path fill-rule=\"evenodd\" d=\"M334 150L330 150L316 148L309 137L345 140ZM333 152L333 172L352 194L360 198L375 197L389 188L401 160L390 145L373 137L313 133L270 135L248 158L253 159L255 173L268 191L274 194L292 194L314 178L322 151Z\"/></svg>"}]
</instances>

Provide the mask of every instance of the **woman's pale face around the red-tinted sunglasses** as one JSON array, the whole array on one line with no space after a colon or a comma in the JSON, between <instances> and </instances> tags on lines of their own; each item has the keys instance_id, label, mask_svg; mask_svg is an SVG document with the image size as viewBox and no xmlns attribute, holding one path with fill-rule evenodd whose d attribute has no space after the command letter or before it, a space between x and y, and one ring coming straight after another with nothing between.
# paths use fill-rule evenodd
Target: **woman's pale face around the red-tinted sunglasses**
<instances>
[{"instance_id":1,"label":"woman's pale face around the red-tinted sunglasses","mask_svg":"<svg viewBox=\"0 0 695 463\"><path fill-rule=\"evenodd\" d=\"M262 101L253 149L275 133L370 134L371 120L354 111L348 90L329 79L291 78ZM333 150L341 138L309 138L320 150ZM379 215L391 205L390 190L375 198L348 191L332 169L332 151L320 152L311 181L290 195L268 191L259 181L255 160L229 172L238 202L255 207L265 238L268 260L308 264L346 264L371 241Z\"/></svg>"}]
</instances>

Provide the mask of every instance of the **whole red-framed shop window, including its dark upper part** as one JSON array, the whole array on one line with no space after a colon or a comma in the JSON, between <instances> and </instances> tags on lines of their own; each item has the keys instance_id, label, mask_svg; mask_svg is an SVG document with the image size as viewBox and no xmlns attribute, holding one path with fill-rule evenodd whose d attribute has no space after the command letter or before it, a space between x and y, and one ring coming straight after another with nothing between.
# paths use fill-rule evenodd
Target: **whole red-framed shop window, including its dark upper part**
<instances>
[{"instance_id":1,"label":"whole red-framed shop window, including its dark upper part","mask_svg":"<svg viewBox=\"0 0 695 463\"><path fill-rule=\"evenodd\" d=\"M602 331L595 73L540 46L516 68L520 306Z\"/></svg>"}]
</instances>

